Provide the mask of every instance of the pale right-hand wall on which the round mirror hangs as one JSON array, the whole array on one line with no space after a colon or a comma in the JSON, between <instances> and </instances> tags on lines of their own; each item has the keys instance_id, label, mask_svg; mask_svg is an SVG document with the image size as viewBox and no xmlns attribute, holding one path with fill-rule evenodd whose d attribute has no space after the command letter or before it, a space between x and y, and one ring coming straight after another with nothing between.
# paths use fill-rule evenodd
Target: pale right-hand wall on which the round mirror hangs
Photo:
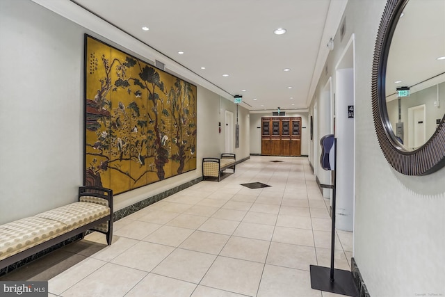
<instances>
[{"instance_id":1,"label":"pale right-hand wall on which the round mirror hangs","mask_svg":"<svg viewBox=\"0 0 445 297\"><path fill-rule=\"evenodd\" d=\"M371 74L385 4L348 1L345 36L340 41L337 32L318 89L330 75L335 86L333 66L355 33L355 260L371 296L445 296L445 168L423 177L401 175L375 135Z\"/></svg>"}]
</instances>

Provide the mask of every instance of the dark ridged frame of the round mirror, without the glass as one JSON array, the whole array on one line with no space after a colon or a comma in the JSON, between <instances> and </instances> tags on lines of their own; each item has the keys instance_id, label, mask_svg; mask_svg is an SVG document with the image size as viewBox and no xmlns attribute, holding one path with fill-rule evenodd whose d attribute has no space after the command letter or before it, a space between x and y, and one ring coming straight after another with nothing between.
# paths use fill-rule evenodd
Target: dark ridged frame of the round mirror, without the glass
<instances>
[{"instance_id":1,"label":"dark ridged frame of the round mirror, without the glass","mask_svg":"<svg viewBox=\"0 0 445 297\"><path fill-rule=\"evenodd\" d=\"M445 115L425 145L410 152L396 140L387 113L385 77L389 47L399 16L408 1L388 0L380 21L371 86L373 118L380 147L391 166L404 175L428 175L445 166Z\"/></svg>"}]
</instances>

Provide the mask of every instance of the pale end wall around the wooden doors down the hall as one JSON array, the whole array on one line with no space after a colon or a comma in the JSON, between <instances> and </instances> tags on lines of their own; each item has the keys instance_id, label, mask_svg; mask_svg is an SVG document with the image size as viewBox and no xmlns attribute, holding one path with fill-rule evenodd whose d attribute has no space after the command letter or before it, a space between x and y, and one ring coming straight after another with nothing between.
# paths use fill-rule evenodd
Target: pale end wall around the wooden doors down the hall
<instances>
[{"instance_id":1,"label":"pale end wall around the wooden doors down the hall","mask_svg":"<svg viewBox=\"0 0 445 297\"><path fill-rule=\"evenodd\" d=\"M261 118L271 116L270 111L250 113L250 154L261 154ZM286 117L301 117L301 154L308 155L310 139L308 113L286 111Z\"/></svg>"}]
</instances>

